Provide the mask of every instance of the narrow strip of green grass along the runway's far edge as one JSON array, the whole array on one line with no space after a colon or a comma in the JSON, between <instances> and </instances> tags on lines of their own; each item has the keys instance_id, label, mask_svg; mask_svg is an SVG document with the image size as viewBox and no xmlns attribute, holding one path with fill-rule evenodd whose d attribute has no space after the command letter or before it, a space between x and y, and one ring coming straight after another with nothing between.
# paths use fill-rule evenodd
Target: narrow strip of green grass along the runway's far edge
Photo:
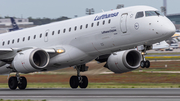
<instances>
[{"instance_id":1,"label":"narrow strip of green grass along the runway's far edge","mask_svg":"<svg viewBox=\"0 0 180 101\"><path fill-rule=\"evenodd\" d=\"M0 84L0 88L8 88L7 84ZM70 88L69 84L62 83L29 83L27 88ZM89 83L87 88L180 88L174 83ZM1 101L1 100L0 100Z\"/></svg>"}]
</instances>

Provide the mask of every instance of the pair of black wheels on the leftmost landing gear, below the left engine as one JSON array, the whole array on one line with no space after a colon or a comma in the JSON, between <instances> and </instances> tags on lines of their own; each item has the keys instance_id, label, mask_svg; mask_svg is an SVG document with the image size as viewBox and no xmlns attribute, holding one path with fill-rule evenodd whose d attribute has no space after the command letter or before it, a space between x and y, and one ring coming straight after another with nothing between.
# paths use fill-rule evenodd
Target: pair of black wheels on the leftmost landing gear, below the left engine
<instances>
[{"instance_id":1,"label":"pair of black wheels on the leftmost landing gear, below the left engine","mask_svg":"<svg viewBox=\"0 0 180 101\"><path fill-rule=\"evenodd\" d=\"M16 76L12 76L9 78L8 86L11 90L15 90L17 87L20 90L24 90L27 86L27 80L25 77L20 76L19 73L17 73Z\"/></svg>"}]
</instances>

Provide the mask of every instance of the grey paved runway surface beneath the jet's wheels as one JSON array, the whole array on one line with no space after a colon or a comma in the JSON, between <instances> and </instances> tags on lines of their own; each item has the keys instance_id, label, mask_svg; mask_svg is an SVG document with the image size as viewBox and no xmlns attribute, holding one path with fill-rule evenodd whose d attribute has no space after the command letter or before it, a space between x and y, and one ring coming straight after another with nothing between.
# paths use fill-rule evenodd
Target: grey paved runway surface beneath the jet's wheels
<instances>
[{"instance_id":1,"label":"grey paved runway surface beneath the jet's wheels","mask_svg":"<svg viewBox=\"0 0 180 101\"><path fill-rule=\"evenodd\" d=\"M47 101L179 101L180 89L0 89L0 99Z\"/></svg>"}]
</instances>

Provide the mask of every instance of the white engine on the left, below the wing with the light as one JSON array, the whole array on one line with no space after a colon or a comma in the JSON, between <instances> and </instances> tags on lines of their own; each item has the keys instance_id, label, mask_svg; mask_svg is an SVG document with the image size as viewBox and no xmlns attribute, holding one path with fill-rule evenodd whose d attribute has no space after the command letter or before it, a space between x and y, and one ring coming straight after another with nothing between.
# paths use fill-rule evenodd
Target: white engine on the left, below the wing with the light
<instances>
[{"instance_id":1,"label":"white engine on the left, below the wing with the light","mask_svg":"<svg viewBox=\"0 0 180 101\"><path fill-rule=\"evenodd\" d=\"M49 54L42 49L28 49L17 53L12 62L20 73L30 73L44 69L49 63Z\"/></svg>"}]
</instances>

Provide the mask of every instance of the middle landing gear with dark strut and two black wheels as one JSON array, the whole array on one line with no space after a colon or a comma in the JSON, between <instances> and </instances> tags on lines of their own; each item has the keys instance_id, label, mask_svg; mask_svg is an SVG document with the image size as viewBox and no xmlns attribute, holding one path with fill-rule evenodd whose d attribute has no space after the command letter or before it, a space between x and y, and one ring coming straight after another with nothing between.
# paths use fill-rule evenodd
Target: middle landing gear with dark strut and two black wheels
<instances>
[{"instance_id":1,"label":"middle landing gear with dark strut and two black wheels","mask_svg":"<svg viewBox=\"0 0 180 101\"><path fill-rule=\"evenodd\" d=\"M80 72L84 72L88 70L88 67L84 65L76 66L75 69L77 70L77 76L72 76L70 78L69 84L71 88L86 88L88 86L88 78L86 76L81 76Z\"/></svg>"}]
</instances>

